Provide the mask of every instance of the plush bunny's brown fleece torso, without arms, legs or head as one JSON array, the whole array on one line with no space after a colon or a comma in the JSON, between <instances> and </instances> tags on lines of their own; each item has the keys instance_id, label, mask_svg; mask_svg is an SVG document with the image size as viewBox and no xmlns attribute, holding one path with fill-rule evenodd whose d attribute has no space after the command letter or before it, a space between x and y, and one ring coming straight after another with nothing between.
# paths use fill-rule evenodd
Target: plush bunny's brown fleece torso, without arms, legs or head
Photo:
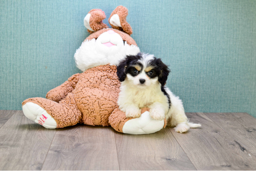
<instances>
[{"instance_id":1,"label":"plush bunny's brown fleece torso, without arms, legs or head","mask_svg":"<svg viewBox=\"0 0 256 171\"><path fill-rule=\"evenodd\" d=\"M116 66L98 66L84 73L73 90L77 107L83 115L82 122L87 125L109 126L108 117L118 107L120 82Z\"/></svg>"}]
</instances>

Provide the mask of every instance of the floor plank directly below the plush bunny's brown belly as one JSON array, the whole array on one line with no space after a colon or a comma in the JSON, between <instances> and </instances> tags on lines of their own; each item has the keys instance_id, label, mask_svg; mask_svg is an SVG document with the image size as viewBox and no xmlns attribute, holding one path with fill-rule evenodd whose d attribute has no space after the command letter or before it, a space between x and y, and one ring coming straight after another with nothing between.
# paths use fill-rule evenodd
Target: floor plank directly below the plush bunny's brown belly
<instances>
[{"instance_id":1,"label":"floor plank directly below the plush bunny's brown belly","mask_svg":"<svg viewBox=\"0 0 256 171\"><path fill-rule=\"evenodd\" d=\"M58 129L42 170L119 170L113 128Z\"/></svg>"}]
</instances>

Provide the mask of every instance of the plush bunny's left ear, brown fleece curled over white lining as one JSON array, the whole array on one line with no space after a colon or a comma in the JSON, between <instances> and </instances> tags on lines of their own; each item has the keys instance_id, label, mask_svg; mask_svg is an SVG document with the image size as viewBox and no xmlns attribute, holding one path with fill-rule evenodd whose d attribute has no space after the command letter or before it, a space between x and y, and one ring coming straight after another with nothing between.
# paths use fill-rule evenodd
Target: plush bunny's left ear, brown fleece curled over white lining
<instances>
[{"instance_id":1,"label":"plush bunny's left ear, brown fleece curled over white lining","mask_svg":"<svg viewBox=\"0 0 256 171\"><path fill-rule=\"evenodd\" d=\"M102 22L102 20L105 18L106 15L104 11L100 9L93 9L89 11L84 19L84 24L85 27L88 29L88 32L92 34L94 31L108 28L108 26Z\"/></svg>"}]
</instances>

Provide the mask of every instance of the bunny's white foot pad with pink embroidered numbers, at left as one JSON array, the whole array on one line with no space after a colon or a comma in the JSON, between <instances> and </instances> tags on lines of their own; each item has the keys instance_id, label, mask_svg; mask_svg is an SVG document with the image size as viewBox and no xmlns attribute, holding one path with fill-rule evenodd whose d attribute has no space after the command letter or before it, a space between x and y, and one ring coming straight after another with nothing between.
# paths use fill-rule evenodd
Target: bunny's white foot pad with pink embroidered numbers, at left
<instances>
[{"instance_id":1,"label":"bunny's white foot pad with pink embroidered numbers, at left","mask_svg":"<svg viewBox=\"0 0 256 171\"><path fill-rule=\"evenodd\" d=\"M22 106L24 115L34 120L36 123L42 125L44 128L55 129L57 127L56 121L44 110L41 106L28 102Z\"/></svg>"}]
</instances>

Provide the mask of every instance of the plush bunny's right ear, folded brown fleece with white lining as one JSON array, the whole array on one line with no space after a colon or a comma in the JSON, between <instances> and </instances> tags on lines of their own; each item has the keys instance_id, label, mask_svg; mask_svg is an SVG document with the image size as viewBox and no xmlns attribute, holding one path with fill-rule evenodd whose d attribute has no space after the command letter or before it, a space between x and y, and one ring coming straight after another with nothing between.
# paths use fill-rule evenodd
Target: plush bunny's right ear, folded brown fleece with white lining
<instances>
[{"instance_id":1,"label":"plush bunny's right ear, folded brown fleece with white lining","mask_svg":"<svg viewBox=\"0 0 256 171\"><path fill-rule=\"evenodd\" d=\"M130 24L127 23L126 17L128 15L128 10L124 6L117 6L116 9L111 13L108 18L110 25L118 30L126 32L128 35L132 34L132 28Z\"/></svg>"}]
</instances>

